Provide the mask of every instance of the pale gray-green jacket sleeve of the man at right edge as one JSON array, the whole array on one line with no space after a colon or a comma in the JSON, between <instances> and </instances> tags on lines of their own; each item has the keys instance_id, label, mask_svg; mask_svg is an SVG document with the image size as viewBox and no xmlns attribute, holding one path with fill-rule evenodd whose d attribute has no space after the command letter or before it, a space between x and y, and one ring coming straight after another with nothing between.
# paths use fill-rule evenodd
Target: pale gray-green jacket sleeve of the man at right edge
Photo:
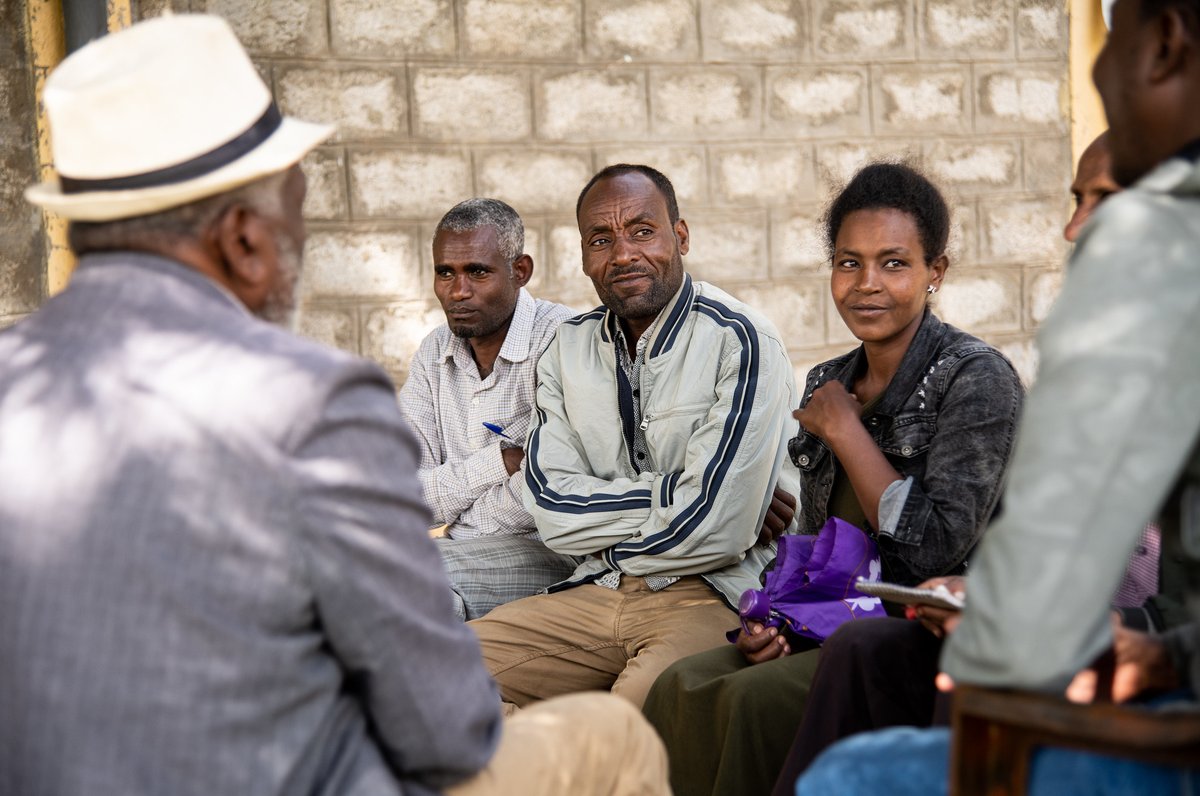
<instances>
[{"instance_id":1,"label":"pale gray-green jacket sleeve of the man at right edge","mask_svg":"<svg viewBox=\"0 0 1200 796\"><path fill-rule=\"evenodd\" d=\"M958 681L1058 692L1108 646L1126 559L1200 430L1196 210L1130 190L1085 231L943 652Z\"/></svg>"}]
</instances>

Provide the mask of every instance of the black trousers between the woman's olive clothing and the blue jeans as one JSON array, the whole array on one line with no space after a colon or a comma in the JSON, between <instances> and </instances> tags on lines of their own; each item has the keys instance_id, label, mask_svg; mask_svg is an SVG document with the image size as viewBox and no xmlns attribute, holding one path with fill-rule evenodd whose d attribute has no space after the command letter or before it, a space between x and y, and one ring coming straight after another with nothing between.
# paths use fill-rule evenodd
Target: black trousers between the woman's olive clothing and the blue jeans
<instances>
[{"instance_id":1,"label":"black trousers between the woman's olive clothing and the blue jeans","mask_svg":"<svg viewBox=\"0 0 1200 796\"><path fill-rule=\"evenodd\" d=\"M821 647L799 732L772 796L792 796L796 780L826 747L886 726L929 726L934 719L942 640L919 622L847 622Z\"/></svg>"}]
</instances>

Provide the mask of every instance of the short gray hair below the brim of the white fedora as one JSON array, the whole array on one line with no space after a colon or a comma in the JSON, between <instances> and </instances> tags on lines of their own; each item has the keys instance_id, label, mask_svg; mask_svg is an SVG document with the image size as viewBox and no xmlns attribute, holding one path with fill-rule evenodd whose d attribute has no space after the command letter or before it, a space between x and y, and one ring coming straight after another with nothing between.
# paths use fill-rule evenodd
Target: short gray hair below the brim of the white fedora
<instances>
[{"instance_id":1,"label":"short gray hair below the brim of the white fedora","mask_svg":"<svg viewBox=\"0 0 1200 796\"><path fill-rule=\"evenodd\" d=\"M288 172L271 174L240 187L188 202L160 213L116 221L74 221L67 241L77 255L89 251L138 249L199 239L228 208L240 204L271 219L283 217L283 182Z\"/></svg>"}]
</instances>

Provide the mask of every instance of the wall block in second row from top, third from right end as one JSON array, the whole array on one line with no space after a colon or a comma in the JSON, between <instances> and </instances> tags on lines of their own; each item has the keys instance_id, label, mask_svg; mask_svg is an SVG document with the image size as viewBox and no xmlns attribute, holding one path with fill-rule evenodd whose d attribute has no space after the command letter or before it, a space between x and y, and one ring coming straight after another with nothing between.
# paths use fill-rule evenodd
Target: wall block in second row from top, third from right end
<instances>
[{"instance_id":1,"label":"wall block in second row from top, third from right end","mask_svg":"<svg viewBox=\"0 0 1200 796\"><path fill-rule=\"evenodd\" d=\"M865 67L767 68L767 128L791 136L871 132Z\"/></svg>"}]
</instances>

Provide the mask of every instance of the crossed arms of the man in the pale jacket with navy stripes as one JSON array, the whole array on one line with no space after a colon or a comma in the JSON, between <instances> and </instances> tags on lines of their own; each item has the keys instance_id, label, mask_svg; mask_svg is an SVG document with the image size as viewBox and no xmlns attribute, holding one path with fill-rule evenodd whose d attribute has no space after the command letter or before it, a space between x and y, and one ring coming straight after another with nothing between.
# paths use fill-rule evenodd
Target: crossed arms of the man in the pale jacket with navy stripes
<instances>
[{"instance_id":1,"label":"crossed arms of the man in the pale jacket with navy stripes","mask_svg":"<svg viewBox=\"0 0 1200 796\"><path fill-rule=\"evenodd\" d=\"M596 555L631 575L685 575L739 561L764 522L791 521L773 487L796 395L791 364L774 340L722 352L713 403L679 445L684 459L668 472L634 478L592 474L558 355L556 341L539 365L526 474L526 505L550 547ZM616 418L612 432L619 433Z\"/></svg>"}]
</instances>

